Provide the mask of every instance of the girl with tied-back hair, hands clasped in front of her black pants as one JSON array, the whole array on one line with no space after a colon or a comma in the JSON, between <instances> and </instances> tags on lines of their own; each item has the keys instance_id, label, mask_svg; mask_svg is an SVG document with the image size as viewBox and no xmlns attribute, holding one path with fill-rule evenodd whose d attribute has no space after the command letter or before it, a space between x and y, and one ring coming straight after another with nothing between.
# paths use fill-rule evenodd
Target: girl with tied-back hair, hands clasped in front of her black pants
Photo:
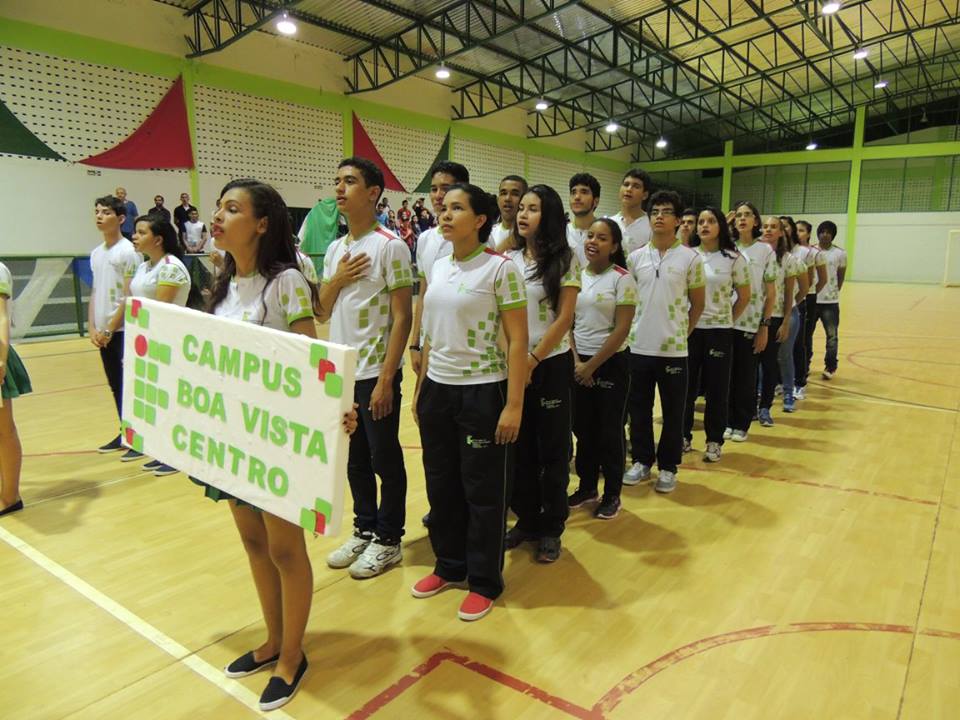
<instances>
[{"instance_id":1,"label":"girl with tied-back hair, hands clasped in front of her black pants","mask_svg":"<svg viewBox=\"0 0 960 720\"><path fill-rule=\"evenodd\" d=\"M626 458L623 426L630 394L627 336L637 310L637 284L627 272L620 226L596 220L584 246L587 265L571 332L574 357L573 431L577 436L580 486L570 508L599 501L594 517L612 520L620 512ZM603 472L603 498L597 494Z\"/></svg>"}]
</instances>

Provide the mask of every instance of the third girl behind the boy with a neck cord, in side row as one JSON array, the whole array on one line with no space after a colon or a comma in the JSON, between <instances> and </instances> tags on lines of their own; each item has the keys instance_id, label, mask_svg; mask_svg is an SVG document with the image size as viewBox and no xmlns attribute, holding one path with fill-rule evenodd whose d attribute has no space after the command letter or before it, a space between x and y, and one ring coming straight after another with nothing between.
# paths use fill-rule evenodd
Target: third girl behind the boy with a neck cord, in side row
<instances>
[{"instance_id":1,"label":"third girl behind the boy with a neck cord, in side row","mask_svg":"<svg viewBox=\"0 0 960 720\"><path fill-rule=\"evenodd\" d=\"M783 225L776 215L763 219L761 240L775 253L774 261L774 303L770 315L770 341L760 354L760 402L757 407L757 419L764 427L773 426L774 390L780 377L780 347L789 344L794 325L793 303L796 299L797 276L800 274L796 261L790 254L790 248ZM793 348L790 348L793 357ZM784 392L787 392L787 380L784 378ZM789 378L789 391L793 396L793 378ZM792 412L792 410L791 410Z\"/></svg>"}]
</instances>

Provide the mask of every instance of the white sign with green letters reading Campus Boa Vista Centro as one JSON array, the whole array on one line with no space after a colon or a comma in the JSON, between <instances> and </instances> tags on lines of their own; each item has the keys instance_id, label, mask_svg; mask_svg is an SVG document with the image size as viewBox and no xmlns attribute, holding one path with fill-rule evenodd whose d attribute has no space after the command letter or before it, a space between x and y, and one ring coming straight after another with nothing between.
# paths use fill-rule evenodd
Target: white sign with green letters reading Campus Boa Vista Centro
<instances>
[{"instance_id":1,"label":"white sign with green letters reading Campus Boa Vista Centro","mask_svg":"<svg viewBox=\"0 0 960 720\"><path fill-rule=\"evenodd\" d=\"M127 300L123 441L311 532L343 515L353 348Z\"/></svg>"}]
</instances>

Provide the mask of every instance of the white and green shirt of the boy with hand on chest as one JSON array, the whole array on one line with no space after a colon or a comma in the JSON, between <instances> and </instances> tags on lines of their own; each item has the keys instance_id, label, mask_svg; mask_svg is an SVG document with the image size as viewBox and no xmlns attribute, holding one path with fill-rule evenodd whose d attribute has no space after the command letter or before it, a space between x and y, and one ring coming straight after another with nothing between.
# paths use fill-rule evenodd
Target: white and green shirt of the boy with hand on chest
<instances>
[{"instance_id":1,"label":"white and green shirt of the boy with hand on chest","mask_svg":"<svg viewBox=\"0 0 960 720\"><path fill-rule=\"evenodd\" d=\"M329 282L345 253L366 253L370 267L359 280L344 287L330 316L331 342L357 349L357 380L380 374L387 357L392 318L390 293L413 285L410 249L400 238L378 225L356 240L335 240L323 258L323 282ZM401 358L401 363L403 362Z\"/></svg>"}]
</instances>

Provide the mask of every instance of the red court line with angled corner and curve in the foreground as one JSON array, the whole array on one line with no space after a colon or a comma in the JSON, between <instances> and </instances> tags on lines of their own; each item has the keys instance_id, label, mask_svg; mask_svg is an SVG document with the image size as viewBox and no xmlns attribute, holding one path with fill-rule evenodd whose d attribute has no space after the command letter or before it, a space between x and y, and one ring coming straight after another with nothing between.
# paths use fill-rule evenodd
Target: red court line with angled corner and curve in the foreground
<instances>
[{"instance_id":1,"label":"red court line with angled corner and curve in the foreground","mask_svg":"<svg viewBox=\"0 0 960 720\"><path fill-rule=\"evenodd\" d=\"M503 673L496 668L471 660L465 655L457 655L450 650L444 650L443 652L431 655L427 658L426 662L418 665L393 685L375 695L366 702L363 707L348 715L347 720L366 720L396 700L402 693L420 682L420 680L436 670L444 662L452 662L478 675L483 675L499 685L516 690L570 717L580 718L581 720L603 720L608 717L608 713L614 710L630 693L643 686L644 683L659 675L664 670L688 658L696 657L714 648L745 642L747 640L775 637L778 635L822 632L884 632L912 635L914 630L908 625L891 625L886 623L806 622L789 623L787 625L763 625L745 630L722 633L682 645L675 650L661 655L643 667L638 668L605 692L591 708L585 708L564 698L552 695L541 688L515 678L512 675ZM920 630L919 633L930 637L960 640L960 632L950 630L924 628Z\"/></svg>"}]
</instances>

